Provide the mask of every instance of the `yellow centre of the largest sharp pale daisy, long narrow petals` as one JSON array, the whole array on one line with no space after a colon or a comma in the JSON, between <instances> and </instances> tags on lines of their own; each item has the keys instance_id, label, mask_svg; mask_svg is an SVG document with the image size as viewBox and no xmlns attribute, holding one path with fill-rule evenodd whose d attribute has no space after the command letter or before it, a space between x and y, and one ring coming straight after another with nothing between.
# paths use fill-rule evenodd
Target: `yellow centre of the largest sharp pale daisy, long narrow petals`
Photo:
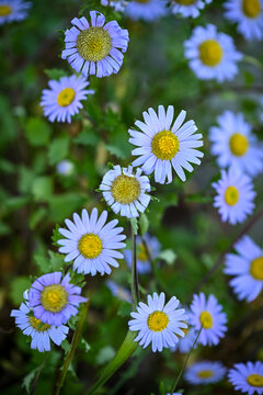
<instances>
[{"instance_id":1,"label":"yellow centre of the largest sharp pale daisy, long narrow petals","mask_svg":"<svg viewBox=\"0 0 263 395\"><path fill-rule=\"evenodd\" d=\"M171 131L162 131L155 135L151 150L158 159L171 160L179 151L179 139Z\"/></svg>"}]
</instances>

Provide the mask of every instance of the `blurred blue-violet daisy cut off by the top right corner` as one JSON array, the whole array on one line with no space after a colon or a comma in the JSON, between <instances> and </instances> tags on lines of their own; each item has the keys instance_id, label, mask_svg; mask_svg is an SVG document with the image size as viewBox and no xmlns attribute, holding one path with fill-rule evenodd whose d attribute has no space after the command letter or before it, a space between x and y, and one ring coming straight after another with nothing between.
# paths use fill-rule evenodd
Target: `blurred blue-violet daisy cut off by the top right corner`
<instances>
[{"instance_id":1,"label":"blurred blue-violet daisy cut off by the top right corner","mask_svg":"<svg viewBox=\"0 0 263 395\"><path fill-rule=\"evenodd\" d=\"M263 38L263 0L228 0L224 7L226 18L238 24L245 40Z\"/></svg>"}]
</instances>

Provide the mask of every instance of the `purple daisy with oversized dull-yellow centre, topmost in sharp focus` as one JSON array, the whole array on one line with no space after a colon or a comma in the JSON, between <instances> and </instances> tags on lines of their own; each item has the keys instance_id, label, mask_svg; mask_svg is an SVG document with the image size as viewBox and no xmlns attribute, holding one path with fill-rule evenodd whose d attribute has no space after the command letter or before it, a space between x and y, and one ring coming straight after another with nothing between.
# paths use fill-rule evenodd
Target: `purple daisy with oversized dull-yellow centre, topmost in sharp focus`
<instances>
[{"instance_id":1,"label":"purple daisy with oversized dull-yellow centre, topmost in sharp focus","mask_svg":"<svg viewBox=\"0 0 263 395\"><path fill-rule=\"evenodd\" d=\"M61 58L83 76L106 77L116 74L123 64L123 54L128 46L128 31L116 21L105 24L105 16L90 11L91 21L84 16L75 18L73 25L65 32L66 48Z\"/></svg>"}]
</instances>

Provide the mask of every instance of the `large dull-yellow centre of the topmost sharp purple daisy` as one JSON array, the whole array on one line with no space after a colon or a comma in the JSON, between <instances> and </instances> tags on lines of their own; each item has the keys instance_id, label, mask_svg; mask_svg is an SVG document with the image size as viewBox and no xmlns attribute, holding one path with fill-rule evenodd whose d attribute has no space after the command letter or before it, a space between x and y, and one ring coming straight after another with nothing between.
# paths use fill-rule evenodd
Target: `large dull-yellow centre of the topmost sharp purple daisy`
<instances>
[{"instance_id":1,"label":"large dull-yellow centre of the topmost sharp purple daisy","mask_svg":"<svg viewBox=\"0 0 263 395\"><path fill-rule=\"evenodd\" d=\"M112 48L112 38L102 27L91 26L80 32L77 40L77 49L80 56L88 61L104 59Z\"/></svg>"}]
</instances>

